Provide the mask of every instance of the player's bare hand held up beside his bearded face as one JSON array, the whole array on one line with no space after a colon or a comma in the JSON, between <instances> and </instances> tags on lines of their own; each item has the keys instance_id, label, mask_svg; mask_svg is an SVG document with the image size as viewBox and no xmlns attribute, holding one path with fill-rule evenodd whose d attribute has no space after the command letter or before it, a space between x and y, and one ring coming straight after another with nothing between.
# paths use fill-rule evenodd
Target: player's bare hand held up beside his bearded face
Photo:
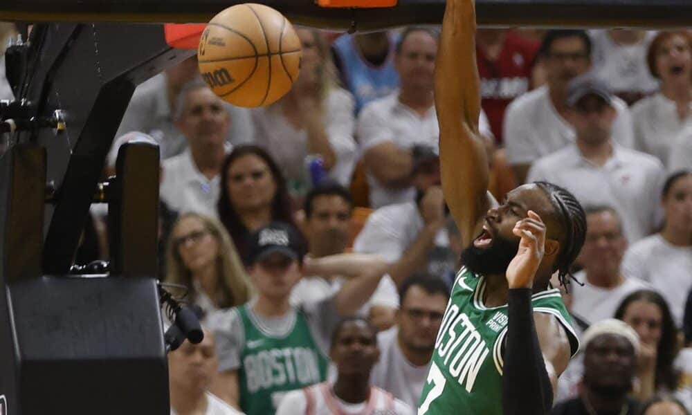
<instances>
[{"instance_id":1,"label":"player's bare hand held up beside his bearded face","mask_svg":"<svg viewBox=\"0 0 692 415\"><path fill-rule=\"evenodd\" d=\"M507 267L509 288L531 288L545 252L545 223L536 212L529 210L529 217L518 221L512 232L521 241L516 257Z\"/></svg>"}]
</instances>

